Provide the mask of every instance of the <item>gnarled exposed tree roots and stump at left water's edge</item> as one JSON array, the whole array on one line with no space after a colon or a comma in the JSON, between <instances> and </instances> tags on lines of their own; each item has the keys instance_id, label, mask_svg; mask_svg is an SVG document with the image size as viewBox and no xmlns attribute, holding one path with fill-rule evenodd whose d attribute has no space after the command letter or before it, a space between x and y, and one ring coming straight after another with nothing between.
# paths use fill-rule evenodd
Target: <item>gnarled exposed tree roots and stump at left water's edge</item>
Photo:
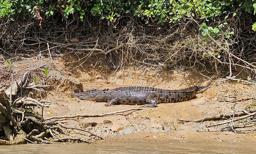
<instances>
[{"instance_id":1,"label":"gnarled exposed tree roots and stump at left water's edge","mask_svg":"<svg viewBox=\"0 0 256 154\"><path fill-rule=\"evenodd\" d=\"M44 118L33 109L34 107L49 107L49 105L41 103L48 101L40 102L30 97L34 91L44 91L41 88L48 86L34 85L30 82L30 73L24 73L21 79L14 81L7 88L6 92L4 89L0 89L0 128L3 128L0 130L4 131L1 134L5 134L5 136L0 136L0 145L67 141L90 143L90 141L82 138L56 137L61 133L60 129L58 127L49 128L45 124ZM6 93L12 96L10 100L13 101L9 102Z\"/></svg>"}]
</instances>

